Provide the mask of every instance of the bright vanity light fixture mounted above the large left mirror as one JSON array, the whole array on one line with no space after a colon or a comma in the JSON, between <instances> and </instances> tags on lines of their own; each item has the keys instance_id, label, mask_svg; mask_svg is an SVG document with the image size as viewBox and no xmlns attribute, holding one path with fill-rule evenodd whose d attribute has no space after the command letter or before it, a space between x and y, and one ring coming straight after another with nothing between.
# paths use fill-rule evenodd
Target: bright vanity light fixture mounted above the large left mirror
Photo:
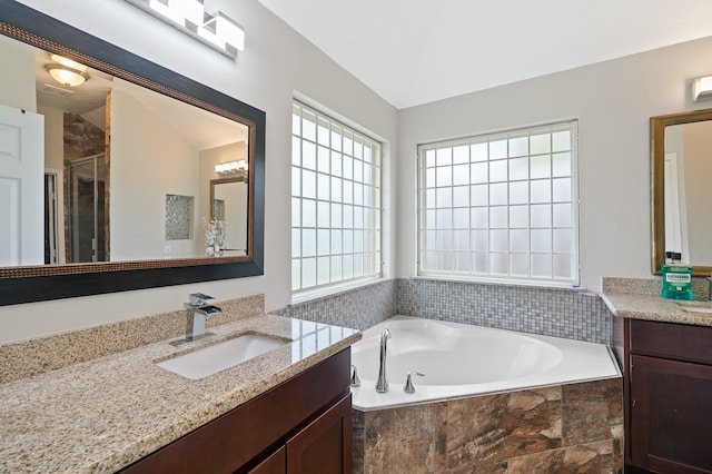
<instances>
[{"instance_id":1,"label":"bright vanity light fixture mounted above the large left mirror","mask_svg":"<svg viewBox=\"0 0 712 474\"><path fill-rule=\"evenodd\" d=\"M228 58L245 49L245 29L220 11L207 13L202 0L126 1Z\"/></svg>"}]
</instances>

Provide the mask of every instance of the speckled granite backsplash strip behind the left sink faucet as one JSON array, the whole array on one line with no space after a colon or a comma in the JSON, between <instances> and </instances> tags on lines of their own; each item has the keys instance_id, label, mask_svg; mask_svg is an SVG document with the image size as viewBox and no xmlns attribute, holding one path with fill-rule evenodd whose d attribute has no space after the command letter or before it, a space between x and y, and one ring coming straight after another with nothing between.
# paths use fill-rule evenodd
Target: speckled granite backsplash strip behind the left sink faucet
<instances>
[{"instance_id":1,"label":"speckled granite backsplash strip behind the left sink faucet","mask_svg":"<svg viewBox=\"0 0 712 474\"><path fill-rule=\"evenodd\" d=\"M206 319L206 327L265 314L265 296L253 295L215 303L219 316ZM0 345L0 383L67 367L158 340L186 334L186 310L160 313L72 330L37 339Z\"/></svg>"}]
</instances>

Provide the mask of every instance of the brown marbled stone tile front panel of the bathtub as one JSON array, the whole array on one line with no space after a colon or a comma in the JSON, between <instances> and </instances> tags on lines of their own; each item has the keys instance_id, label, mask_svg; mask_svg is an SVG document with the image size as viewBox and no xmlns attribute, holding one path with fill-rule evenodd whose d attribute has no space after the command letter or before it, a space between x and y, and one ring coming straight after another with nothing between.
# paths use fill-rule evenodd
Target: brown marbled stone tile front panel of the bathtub
<instances>
[{"instance_id":1,"label":"brown marbled stone tile front panel of the bathtub","mask_svg":"<svg viewBox=\"0 0 712 474\"><path fill-rule=\"evenodd\" d=\"M622 378L354 411L354 472L621 473Z\"/></svg>"}]
</instances>

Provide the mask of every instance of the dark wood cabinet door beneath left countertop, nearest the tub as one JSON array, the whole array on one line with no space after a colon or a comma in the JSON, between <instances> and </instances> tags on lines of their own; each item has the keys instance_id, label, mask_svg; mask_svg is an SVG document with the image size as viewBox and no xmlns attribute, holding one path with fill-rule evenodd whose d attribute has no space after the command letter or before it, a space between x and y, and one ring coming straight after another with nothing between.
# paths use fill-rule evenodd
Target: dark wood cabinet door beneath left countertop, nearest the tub
<instances>
[{"instance_id":1,"label":"dark wood cabinet door beneath left countertop, nearest the tub","mask_svg":"<svg viewBox=\"0 0 712 474\"><path fill-rule=\"evenodd\" d=\"M350 474L350 394L287 442L287 472Z\"/></svg>"}]
</instances>

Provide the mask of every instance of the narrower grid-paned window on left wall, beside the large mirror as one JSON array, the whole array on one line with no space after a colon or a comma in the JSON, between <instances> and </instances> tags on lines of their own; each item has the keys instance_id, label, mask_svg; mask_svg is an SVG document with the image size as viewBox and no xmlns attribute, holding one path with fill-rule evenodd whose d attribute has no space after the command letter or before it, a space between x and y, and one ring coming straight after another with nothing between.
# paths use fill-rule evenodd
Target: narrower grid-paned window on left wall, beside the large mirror
<instances>
[{"instance_id":1,"label":"narrower grid-paned window on left wall, beside the large mirror","mask_svg":"<svg viewBox=\"0 0 712 474\"><path fill-rule=\"evenodd\" d=\"M291 290L380 276L380 144L293 103Z\"/></svg>"}]
</instances>

